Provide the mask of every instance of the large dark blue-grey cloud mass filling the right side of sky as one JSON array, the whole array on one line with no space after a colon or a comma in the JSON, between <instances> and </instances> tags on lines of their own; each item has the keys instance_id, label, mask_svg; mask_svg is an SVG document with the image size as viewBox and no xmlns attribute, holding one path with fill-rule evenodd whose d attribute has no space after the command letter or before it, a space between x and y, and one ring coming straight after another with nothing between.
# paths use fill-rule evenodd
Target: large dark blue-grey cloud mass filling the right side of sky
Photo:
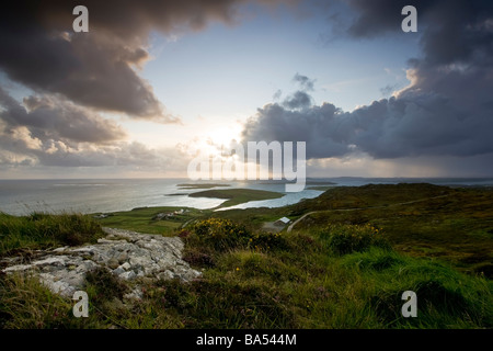
<instances>
[{"instance_id":1,"label":"large dark blue-grey cloud mass filling the right side of sky","mask_svg":"<svg viewBox=\"0 0 493 351\"><path fill-rule=\"evenodd\" d=\"M330 103L267 104L248 122L243 139L303 140L308 158L491 155L493 2L348 2L357 11L347 30L355 37L399 33L401 9L417 8L423 53L410 59L411 84L353 112Z\"/></svg>"}]
</instances>

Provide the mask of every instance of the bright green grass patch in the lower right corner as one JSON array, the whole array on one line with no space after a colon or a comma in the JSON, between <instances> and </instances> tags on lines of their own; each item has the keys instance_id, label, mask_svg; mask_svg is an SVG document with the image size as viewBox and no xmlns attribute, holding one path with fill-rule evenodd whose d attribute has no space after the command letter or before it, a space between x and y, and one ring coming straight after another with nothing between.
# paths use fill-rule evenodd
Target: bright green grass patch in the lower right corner
<instances>
[{"instance_id":1,"label":"bright green grass patch in the lower right corner","mask_svg":"<svg viewBox=\"0 0 493 351\"><path fill-rule=\"evenodd\" d=\"M433 260L381 249L346 257L342 264L374 287L367 298L372 313L387 327L492 327L493 284L489 280L470 278ZM403 320L400 316L404 291L416 293L419 318Z\"/></svg>"}]
</instances>

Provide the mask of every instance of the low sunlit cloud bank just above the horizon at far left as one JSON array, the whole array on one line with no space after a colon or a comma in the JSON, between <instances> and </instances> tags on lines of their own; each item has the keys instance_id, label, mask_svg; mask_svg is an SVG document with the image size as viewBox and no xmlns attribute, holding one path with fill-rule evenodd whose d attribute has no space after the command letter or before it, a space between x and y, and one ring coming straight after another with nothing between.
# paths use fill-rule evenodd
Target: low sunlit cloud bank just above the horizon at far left
<instances>
[{"instance_id":1,"label":"low sunlit cloud bank just above the horizon at far left","mask_svg":"<svg viewBox=\"0 0 493 351\"><path fill-rule=\"evenodd\" d=\"M0 88L0 168L114 167L184 169L186 157L174 148L151 149L125 140L115 122L92 109L53 97L27 97L22 103Z\"/></svg>"}]
</instances>

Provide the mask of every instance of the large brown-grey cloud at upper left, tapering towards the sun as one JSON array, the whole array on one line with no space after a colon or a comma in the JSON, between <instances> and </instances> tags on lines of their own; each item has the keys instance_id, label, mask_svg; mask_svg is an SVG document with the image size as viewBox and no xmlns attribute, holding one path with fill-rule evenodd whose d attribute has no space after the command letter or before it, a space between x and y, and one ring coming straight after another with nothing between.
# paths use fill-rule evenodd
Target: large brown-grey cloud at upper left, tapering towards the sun
<instances>
[{"instance_id":1,"label":"large brown-grey cloud at upper left, tapering towards the sun","mask_svg":"<svg viewBox=\"0 0 493 351\"><path fill-rule=\"evenodd\" d=\"M60 93L96 109L123 112L135 117L176 122L163 113L152 88L131 68L147 53L98 37L77 34L70 39L36 33L23 39L0 34L8 49L0 66L9 78L39 92Z\"/></svg>"}]
</instances>

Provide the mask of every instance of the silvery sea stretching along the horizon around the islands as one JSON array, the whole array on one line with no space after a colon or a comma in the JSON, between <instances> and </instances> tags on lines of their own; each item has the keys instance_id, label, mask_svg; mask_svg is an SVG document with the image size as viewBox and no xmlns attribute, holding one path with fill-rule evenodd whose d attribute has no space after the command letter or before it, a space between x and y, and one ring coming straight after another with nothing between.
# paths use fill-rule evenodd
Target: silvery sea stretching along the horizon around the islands
<instances>
[{"instance_id":1,"label":"silvery sea stretching along the horizon around the islands","mask_svg":"<svg viewBox=\"0 0 493 351\"><path fill-rule=\"evenodd\" d=\"M359 186L365 184L432 183L450 186L493 186L493 178L317 178L307 179L303 191L285 192L277 181L231 181L220 189L256 189L283 193L274 200L251 201L229 208L279 207L323 193L312 186ZM11 215L43 213L111 213L136 207L183 206L215 208L223 199L190 197L203 189L184 189L180 184L219 183L193 182L188 179L51 179L0 180L0 212Z\"/></svg>"}]
</instances>

